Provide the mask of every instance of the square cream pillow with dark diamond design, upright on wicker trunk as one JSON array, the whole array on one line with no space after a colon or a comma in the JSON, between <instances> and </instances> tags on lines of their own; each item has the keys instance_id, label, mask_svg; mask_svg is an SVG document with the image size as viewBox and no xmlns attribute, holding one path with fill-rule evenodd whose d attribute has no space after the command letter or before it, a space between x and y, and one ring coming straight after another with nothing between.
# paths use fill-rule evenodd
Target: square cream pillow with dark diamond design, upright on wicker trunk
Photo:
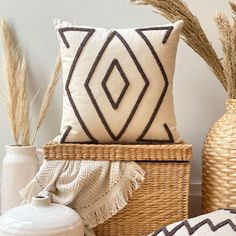
<instances>
[{"instance_id":1,"label":"square cream pillow with dark diamond design, upright on wicker trunk","mask_svg":"<svg viewBox=\"0 0 236 236\"><path fill-rule=\"evenodd\" d=\"M107 30L55 20L64 81L56 141L180 142L172 80L182 26Z\"/></svg>"}]
</instances>

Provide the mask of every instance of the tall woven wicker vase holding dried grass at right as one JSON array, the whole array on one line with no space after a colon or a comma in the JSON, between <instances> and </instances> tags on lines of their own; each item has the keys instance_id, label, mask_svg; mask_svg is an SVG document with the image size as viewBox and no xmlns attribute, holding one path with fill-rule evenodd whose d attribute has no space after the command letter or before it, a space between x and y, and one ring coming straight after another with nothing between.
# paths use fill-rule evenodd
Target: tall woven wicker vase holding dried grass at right
<instances>
[{"instance_id":1,"label":"tall woven wicker vase holding dried grass at right","mask_svg":"<svg viewBox=\"0 0 236 236\"><path fill-rule=\"evenodd\" d=\"M202 209L236 208L236 99L212 126L203 149Z\"/></svg>"}]
</instances>

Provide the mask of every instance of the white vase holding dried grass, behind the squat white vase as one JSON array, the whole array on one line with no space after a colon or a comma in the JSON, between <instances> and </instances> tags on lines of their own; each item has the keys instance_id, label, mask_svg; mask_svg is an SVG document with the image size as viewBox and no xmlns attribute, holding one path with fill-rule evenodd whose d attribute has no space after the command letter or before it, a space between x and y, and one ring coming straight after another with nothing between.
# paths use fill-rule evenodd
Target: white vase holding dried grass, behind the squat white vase
<instances>
[{"instance_id":1,"label":"white vase holding dried grass, behind the squat white vase","mask_svg":"<svg viewBox=\"0 0 236 236\"><path fill-rule=\"evenodd\" d=\"M33 146L5 146L2 164L1 213L21 204L19 191L36 175L39 161Z\"/></svg>"}]
</instances>

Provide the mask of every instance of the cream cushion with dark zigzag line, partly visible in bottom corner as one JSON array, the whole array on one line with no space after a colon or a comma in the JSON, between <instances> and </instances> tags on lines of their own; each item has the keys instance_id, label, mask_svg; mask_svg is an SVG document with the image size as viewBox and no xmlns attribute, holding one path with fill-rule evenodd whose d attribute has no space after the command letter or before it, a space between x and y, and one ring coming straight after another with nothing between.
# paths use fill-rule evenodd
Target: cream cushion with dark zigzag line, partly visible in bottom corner
<instances>
[{"instance_id":1,"label":"cream cushion with dark zigzag line, partly visible in bottom corner","mask_svg":"<svg viewBox=\"0 0 236 236\"><path fill-rule=\"evenodd\" d=\"M236 211L218 210L163 227L149 236L234 236Z\"/></svg>"}]
</instances>

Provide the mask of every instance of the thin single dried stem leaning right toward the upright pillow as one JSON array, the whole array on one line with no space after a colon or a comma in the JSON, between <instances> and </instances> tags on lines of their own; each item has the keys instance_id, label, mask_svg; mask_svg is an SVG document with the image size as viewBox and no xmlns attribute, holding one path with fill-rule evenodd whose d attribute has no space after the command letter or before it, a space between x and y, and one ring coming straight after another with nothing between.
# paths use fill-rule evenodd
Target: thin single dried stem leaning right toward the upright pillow
<instances>
[{"instance_id":1,"label":"thin single dried stem leaning right toward the upright pillow","mask_svg":"<svg viewBox=\"0 0 236 236\"><path fill-rule=\"evenodd\" d=\"M39 116L38 116L38 119L37 119L37 122L36 122L36 130L35 130L33 141L32 141L33 144L35 142L37 132L38 132L43 120L44 120L44 117L45 117L46 112L48 110L49 104L52 100L54 91L56 89L57 82L60 78L60 71L61 71L61 58L60 58L60 55L58 54L55 69L53 71L53 74L52 74L50 83L47 87L47 90L44 94L43 102L42 102L40 112L39 112Z\"/></svg>"}]
</instances>

